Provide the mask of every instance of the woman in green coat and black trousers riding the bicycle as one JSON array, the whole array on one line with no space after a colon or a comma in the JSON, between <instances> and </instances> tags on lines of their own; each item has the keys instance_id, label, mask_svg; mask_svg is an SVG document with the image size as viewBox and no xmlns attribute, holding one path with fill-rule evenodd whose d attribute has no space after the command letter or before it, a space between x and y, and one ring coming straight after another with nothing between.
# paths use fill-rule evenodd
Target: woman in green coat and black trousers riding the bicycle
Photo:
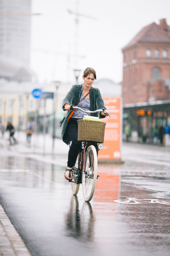
<instances>
[{"instance_id":1,"label":"woman in green coat and black trousers riding the bicycle","mask_svg":"<svg viewBox=\"0 0 170 256\"><path fill-rule=\"evenodd\" d=\"M84 83L80 85L73 85L66 97L63 99L62 107L66 111L70 111L70 105L76 105L83 110L95 111L97 109L106 110L100 90L93 88L92 84L96 79L96 71L92 68L86 68L83 73ZM104 118L107 113L103 112L92 113L92 116ZM68 145L72 141L69 152L68 162L65 172L65 179L72 180L72 167L75 165L75 161L79 154L82 142L78 141L78 119L83 119L84 113L78 109L68 112L63 120L60 122L62 127L62 139ZM98 153L97 142L93 143Z\"/></svg>"}]
</instances>

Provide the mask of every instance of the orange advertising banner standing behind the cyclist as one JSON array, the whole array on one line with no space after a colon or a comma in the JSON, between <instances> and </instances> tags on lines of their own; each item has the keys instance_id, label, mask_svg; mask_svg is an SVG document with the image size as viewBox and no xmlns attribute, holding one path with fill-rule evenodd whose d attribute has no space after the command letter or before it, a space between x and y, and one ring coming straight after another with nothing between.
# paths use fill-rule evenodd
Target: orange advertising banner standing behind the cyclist
<instances>
[{"instance_id":1,"label":"orange advertising banner standing behind the cyclist","mask_svg":"<svg viewBox=\"0 0 170 256\"><path fill-rule=\"evenodd\" d=\"M121 158L121 98L103 98L111 117L102 119L105 123L104 148L99 151L99 159Z\"/></svg>"}]
</instances>

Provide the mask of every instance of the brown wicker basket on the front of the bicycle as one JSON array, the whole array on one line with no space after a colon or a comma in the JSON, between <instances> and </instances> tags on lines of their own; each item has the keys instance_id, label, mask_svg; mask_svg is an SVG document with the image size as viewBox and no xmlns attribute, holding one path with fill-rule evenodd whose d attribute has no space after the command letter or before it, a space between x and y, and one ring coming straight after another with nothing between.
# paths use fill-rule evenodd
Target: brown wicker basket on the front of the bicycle
<instances>
[{"instance_id":1,"label":"brown wicker basket on the front of the bicycle","mask_svg":"<svg viewBox=\"0 0 170 256\"><path fill-rule=\"evenodd\" d=\"M78 123L78 140L104 142L106 123L94 120L80 119Z\"/></svg>"}]
</instances>

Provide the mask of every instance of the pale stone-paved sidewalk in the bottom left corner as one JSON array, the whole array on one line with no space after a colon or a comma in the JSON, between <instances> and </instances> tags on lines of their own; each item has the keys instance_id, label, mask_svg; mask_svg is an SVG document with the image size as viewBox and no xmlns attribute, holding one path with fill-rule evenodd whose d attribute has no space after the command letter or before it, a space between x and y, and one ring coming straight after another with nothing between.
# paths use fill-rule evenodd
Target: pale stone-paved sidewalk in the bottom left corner
<instances>
[{"instance_id":1,"label":"pale stone-paved sidewalk in the bottom left corner","mask_svg":"<svg viewBox=\"0 0 170 256\"><path fill-rule=\"evenodd\" d=\"M31 256L0 204L0 255Z\"/></svg>"}]
</instances>

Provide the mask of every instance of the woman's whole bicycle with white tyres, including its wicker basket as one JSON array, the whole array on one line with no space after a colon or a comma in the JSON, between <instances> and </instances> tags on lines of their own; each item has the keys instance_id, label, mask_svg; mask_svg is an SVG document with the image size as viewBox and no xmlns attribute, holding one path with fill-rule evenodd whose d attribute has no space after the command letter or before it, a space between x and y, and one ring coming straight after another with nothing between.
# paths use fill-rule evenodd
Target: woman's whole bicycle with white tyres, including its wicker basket
<instances>
[{"instance_id":1,"label":"woman's whole bicycle with white tyres, including its wicker basket","mask_svg":"<svg viewBox=\"0 0 170 256\"><path fill-rule=\"evenodd\" d=\"M103 112L102 109L98 109L95 111L85 111L77 106L71 105L70 110L73 109L79 109L85 112L87 116L89 116L89 114L91 113ZM104 113L108 112L104 111ZM80 119L77 122L78 140L82 141L83 143L78 154L75 166L73 166L72 168L72 180L69 182L71 182L73 195L78 194L80 184L82 184L84 200L89 202L95 193L96 181L99 177L99 175L97 174L97 152L95 146L92 145L92 142L95 141L99 143L98 150L103 149L104 146L101 143L104 142L104 128L106 123L100 122L100 120L95 121L95 119ZM85 131L85 134L82 134L83 131Z\"/></svg>"}]
</instances>

